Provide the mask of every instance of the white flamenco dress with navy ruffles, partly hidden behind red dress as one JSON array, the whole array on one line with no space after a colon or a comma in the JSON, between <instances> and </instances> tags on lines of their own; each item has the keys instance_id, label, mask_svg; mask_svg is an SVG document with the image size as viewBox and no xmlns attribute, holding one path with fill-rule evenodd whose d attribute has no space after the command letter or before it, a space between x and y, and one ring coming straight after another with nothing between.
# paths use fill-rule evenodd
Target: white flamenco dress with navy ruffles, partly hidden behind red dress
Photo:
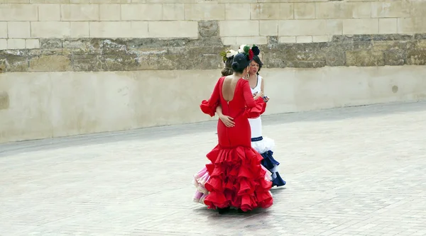
<instances>
[{"instance_id":1,"label":"white flamenco dress with navy ruffles, partly hidden behind red dress","mask_svg":"<svg viewBox=\"0 0 426 236\"><path fill-rule=\"evenodd\" d=\"M261 92L261 84L262 77L258 75L257 84L251 89L251 93ZM272 156L275 142L271 140L271 138L262 136L262 118L259 116L258 118L249 119L249 123L251 128L251 147L262 155L262 166L272 173L272 186L285 185L285 181L278 173L278 165L280 162L275 160Z\"/></svg>"}]
</instances>

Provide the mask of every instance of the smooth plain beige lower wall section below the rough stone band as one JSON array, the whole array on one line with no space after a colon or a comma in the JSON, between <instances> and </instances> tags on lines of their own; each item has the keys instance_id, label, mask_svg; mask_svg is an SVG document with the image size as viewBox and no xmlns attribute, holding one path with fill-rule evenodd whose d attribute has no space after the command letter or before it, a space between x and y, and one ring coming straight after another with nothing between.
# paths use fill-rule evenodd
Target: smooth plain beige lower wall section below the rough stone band
<instances>
[{"instance_id":1,"label":"smooth plain beige lower wall section below the rough stone band","mask_svg":"<svg viewBox=\"0 0 426 236\"><path fill-rule=\"evenodd\" d=\"M426 99L426 67L263 69L266 114ZM0 142L212 120L220 69L0 74ZM214 132L214 130L212 130Z\"/></svg>"}]
</instances>

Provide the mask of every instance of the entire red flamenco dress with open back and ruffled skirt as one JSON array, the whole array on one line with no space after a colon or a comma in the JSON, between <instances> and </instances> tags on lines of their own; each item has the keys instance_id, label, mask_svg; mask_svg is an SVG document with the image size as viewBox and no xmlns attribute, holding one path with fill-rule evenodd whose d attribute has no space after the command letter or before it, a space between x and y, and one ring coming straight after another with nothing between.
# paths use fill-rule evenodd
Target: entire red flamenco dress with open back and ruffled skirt
<instances>
[{"instance_id":1,"label":"entire red flamenco dress with open back and ruffled skirt","mask_svg":"<svg viewBox=\"0 0 426 236\"><path fill-rule=\"evenodd\" d=\"M212 162L206 164L209 180L204 187L209 192L204 199L208 208L268 208L273 204L269 191L271 181L265 179L261 167L263 157L251 148L251 129L248 118L260 116L266 108L262 98L253 99L249 82L239 79L234 98L227 102L222 95L224 77L214 86L209 101L202 101L203 113L214 116L217 106L224 115L234 118L235 126L226 128L222 120L217 123L219 144L207 154Z\"/></svg>"}]
</instances>

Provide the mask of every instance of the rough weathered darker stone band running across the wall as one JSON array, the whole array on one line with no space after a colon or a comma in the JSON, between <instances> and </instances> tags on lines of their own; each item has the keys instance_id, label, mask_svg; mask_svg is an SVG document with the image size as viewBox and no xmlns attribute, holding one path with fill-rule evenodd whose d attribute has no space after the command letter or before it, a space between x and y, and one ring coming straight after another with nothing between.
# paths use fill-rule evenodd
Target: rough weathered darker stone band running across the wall
<instances>
[{"instance_id":1,"label":"rough weathered darker stone band running across the wall","mask_svg":"<svg viewBox=\"0 0 426 236\"><path fill-rule=\"evenodd\" d=\"M207 32L207 35L209 33ZM426 34L334 35L327 43L259 45L266 68L426 64ZM2 72L218 69L220 38L40 39L40 48L0 50Z\"/></svg>"}]
</instances>

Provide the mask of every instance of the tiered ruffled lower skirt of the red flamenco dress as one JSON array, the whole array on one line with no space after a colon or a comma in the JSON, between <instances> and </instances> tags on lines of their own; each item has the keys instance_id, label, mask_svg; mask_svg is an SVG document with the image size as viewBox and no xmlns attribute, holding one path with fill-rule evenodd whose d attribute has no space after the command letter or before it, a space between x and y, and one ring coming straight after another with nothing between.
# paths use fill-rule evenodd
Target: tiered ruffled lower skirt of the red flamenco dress
<instances>
[{"instance_id":1,"label":"tiered ruffled lower skirt of the red flamenco dress","mask_svg":"<svg viewBox=\"0 0 426 236\"><path fill-rule=\"evenodd\" d=\"M205 184L209 194L204 204L209 208L234 207L247 211L272 206L269 192L272 183L265 179L263 158L258 152L251 147L228 149L217 145L207 158L212 162L206 165L210 178Z\"/></svg>"}]
</instances>

